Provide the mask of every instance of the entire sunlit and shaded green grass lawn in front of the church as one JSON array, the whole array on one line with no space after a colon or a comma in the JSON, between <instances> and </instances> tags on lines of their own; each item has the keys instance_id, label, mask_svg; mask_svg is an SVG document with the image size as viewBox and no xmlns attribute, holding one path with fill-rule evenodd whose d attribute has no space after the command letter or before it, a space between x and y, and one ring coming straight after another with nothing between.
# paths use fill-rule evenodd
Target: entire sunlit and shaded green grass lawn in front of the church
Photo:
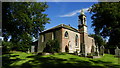
<instances>
[{"instance_id":1,"label":"entire sunlit and shaded green grass lawn in front of the church","mask_svg":"<svg viewBox=\"0 0 120 68\"><path fill-rule=\"evenodd\" d=\"M2 59L2 68L120 68L118 58L109 54L91 59L65 53L40 56L14 51Z\"/></svg>"}]
</instances>

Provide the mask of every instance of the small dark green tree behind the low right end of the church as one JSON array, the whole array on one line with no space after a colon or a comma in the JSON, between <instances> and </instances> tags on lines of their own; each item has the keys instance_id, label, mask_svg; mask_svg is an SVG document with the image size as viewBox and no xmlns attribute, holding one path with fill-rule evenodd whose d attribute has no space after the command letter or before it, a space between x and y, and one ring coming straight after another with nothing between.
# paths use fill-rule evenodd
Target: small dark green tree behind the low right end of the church
<instances>
[{"instance_id":1,"label":"small dark green tree behind the low right end of the church","mask_svg":"<svg viewBox=\"0 0 120 68\"><path fill-rule=\"evenodd\" d=\"M89 36L93 37L95 39L95 44L98 44L100 47L101 45L105 45L105 40L100 35L90 34Z\"/></svg>"}]
</instances>

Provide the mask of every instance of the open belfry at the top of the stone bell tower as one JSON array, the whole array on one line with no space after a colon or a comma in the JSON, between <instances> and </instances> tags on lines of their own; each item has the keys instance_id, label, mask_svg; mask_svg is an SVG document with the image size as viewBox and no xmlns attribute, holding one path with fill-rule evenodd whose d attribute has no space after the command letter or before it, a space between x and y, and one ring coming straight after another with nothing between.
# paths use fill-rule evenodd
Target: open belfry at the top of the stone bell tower
<instances>
[{"instance_id":1,"label":"open belfry at the top of the stone bell tower","mask_svg":"<svg viewBox=\"0 0 120 68\"><path fill-rule=\"evenodd\" d=\"M87 33L86 15L83 10L81 10L80 15L78 16L78 30L80 33Z\"/></svg>"}]
</instances>

